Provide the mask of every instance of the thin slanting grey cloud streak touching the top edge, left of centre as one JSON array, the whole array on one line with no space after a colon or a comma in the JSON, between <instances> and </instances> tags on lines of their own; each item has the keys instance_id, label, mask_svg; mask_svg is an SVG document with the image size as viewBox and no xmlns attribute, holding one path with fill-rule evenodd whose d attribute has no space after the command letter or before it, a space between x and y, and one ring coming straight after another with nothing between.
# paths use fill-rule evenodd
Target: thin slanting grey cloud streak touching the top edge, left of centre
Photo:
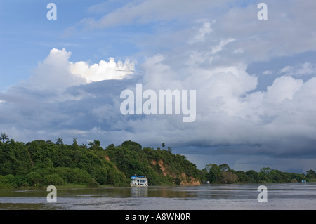
<instances>
[{"instance_id":1,"label":"thin slanting grey cloud streak touching the top edge, left of centre","mask_svg":"<svg viewBox=\"0 0 316 224\"><path fill-rule=\"evenodd\" d=\"M107 13L99 20L94 18L86 18L81 21L84 27L88 28L106 28L116 25L127 25L131 23L148 24L150 22L164 21L164 20L182 20L187 19L187 15L202 13L205 10L211 10L216 6L225 6L228 0L223 1L129 1L121 8ZM214 11L214 9L213 9ZM208 14L205 14L208 15Z\"/></svg>"}]
</instances>

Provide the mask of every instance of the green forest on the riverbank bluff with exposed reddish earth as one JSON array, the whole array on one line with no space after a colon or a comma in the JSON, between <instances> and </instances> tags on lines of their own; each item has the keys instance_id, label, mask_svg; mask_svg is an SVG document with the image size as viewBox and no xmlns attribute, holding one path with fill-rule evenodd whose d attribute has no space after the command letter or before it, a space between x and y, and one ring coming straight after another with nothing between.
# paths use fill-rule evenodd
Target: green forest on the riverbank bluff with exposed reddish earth
<instances>
[{"instance_id":1,"label":"green forest on the riverbank bluff with exposed reddish earth","mask_svg":"<svg viewBox=\"0 0 316 224\"><path fill-rule=\"evenodd\" d=\"M269 167L259 172L234 171L228 164L207 164L199 170L171 147L142 147L131 140L100 147L66 145L62 138L28 143L8 140L1 134L0 188L58 185L64 187L129 186L131 175L147 176L149 185L197 185L204 183L287 183L316 181L315 171L287 173Z\"/></svg>"}]
</instances>

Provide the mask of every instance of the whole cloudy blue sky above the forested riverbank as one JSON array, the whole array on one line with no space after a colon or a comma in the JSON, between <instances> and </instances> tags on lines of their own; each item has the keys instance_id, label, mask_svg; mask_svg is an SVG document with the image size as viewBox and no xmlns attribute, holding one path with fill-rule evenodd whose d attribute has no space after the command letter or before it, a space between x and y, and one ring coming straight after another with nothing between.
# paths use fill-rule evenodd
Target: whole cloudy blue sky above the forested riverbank
<instances>
[{"instance_id":1,"label":"whole cloudy blue sky above the forested riverbank","mask_svg":"<svg viewBox=\"0 0 316 224\"><path fill-rule=\"evenodd\" d=\"M24 143L165 143L199 169L316 170L315 8L313 0L1 0L0 133ZM136 84L157 97L195 90L195 120L122 114L121 92L136 99Z\"/></svg>"}]
</instances>

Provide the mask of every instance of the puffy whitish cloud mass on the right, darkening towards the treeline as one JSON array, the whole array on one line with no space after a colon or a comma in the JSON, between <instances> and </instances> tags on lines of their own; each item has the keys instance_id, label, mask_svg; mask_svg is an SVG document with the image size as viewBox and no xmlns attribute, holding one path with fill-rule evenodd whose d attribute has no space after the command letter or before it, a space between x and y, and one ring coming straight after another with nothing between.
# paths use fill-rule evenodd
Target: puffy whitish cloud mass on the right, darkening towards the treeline
<instances>
[{"instance_id":1,"label":"puffy whitish cloud mass on the right, darkening towards the treeline","mask_svg":"<svg viewBox=\"0 0 316 224\"><path fill-rule=\"evenodd\" d=\"M186 55L191 61L191 55ZM168 59L162 55L148 58L143 66L143 84L154 89L196 89L196 121L187 125L178 123L176 117L147 116L127 126L145 129L175 145L244 145L244 152L279 156L293 154L301 144L305 152L313 152L316 139L310 133L316 131L312 115L316 113L316 93L311 86L315 78L304 82L277 77L267 91L255 91L258 78L246 72L246 65L203 67L199 62L192 65L183 61L179 69ZM160 132L163 121L166 124ZM145 133L137 129L130 135L144 140Z\"/></svg>"}]
</instances>

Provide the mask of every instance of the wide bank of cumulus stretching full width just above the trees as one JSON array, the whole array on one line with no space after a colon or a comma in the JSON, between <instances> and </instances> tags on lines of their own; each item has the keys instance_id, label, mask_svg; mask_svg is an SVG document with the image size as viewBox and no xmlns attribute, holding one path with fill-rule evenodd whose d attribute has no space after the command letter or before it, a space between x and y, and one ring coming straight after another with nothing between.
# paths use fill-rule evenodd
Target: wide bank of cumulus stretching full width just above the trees
<instances>
[{"instance_id":1,"label":"wide bank of cumulus stretching full width just above the trees","mask_svg":"<svg viewBox=\"0 0 316 224\"><path fill-rule=\"evenodd\" d=\"M179 74L168 58L155 55L143 64L141 79L120 80L122 71L116 69L124 64L114 66L114 60L110 60L89 67L86 62L69 62L69 55L53 49L27 84L1 93L1 121L8 133L11 130L20 136L47 139L51 131L55 137L98 137L107 143L133 139L147 145L166 141L202 150L236 145L238 152L276 157L315 155L316 77L304 82L285 75L277 77L266 91L256 91L258 78L248 74L245 65L193 69L189 57L187 72ZM99 67L110 72L89 76ZM109 77L112 80L107 80ZM177 115L122 115L119 93L135 88L137 83L143 83L144 90L195 89L196 121L183 124Z\"/></svg>"}]
</instances>

